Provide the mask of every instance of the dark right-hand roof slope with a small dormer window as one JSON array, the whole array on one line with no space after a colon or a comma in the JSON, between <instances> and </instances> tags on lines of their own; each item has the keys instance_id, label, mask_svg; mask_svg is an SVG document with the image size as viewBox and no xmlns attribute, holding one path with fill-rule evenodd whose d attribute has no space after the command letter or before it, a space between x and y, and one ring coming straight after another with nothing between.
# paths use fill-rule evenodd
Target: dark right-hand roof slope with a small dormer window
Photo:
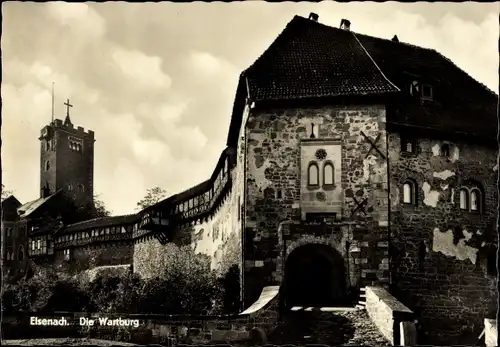
<instances>
[{"instance_id":1,"label":"dark right-hand roof slope with a small dormer window","mask_svg":"<svg viewBox=\"0 0 500 347\"><path fill-rule=\"evenodd\" d=\"M388 122L478 137L497 137L498 96L433 49L356 34L384 74L403 91ZM432 86L433 101L409 95L416 79ZM391 117L392 116L392 117Z\"/></svg>"}]
</instances>

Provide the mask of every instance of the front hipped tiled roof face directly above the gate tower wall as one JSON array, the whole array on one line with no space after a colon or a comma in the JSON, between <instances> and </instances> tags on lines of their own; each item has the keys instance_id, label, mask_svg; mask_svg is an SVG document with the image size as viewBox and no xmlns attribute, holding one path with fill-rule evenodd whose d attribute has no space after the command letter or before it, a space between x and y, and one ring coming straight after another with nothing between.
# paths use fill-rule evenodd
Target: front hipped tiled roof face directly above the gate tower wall
<instances>
[{"instance_id":1,"label":"front hipped tiled roof face directly above the gate tower wall","mask_svg":"<svg viewBox=\"0 0 500 347\"><path fill-rule=\"evenodd\" d=\"M397 92L356 36L295 16L250 66L252 100Z\"/></svg>"}]
</instances>

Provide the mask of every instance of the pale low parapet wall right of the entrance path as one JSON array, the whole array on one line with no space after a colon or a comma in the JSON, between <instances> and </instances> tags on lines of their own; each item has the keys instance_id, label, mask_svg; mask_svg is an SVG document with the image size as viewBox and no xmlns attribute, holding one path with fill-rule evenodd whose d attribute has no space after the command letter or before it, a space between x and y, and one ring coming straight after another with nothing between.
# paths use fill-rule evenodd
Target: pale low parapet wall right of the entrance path
<instances>
[{"instance_id":1,"label":"pale low parapet wall right of the entrance path","mask_svg":"<svg viewBox=\"0 0 500 347\"><path fill-rule=\"evenodd\" d=\"M413 323L414 320L414 314L408 307L380 287L366 287L366 311L393 345L400 345L400 323Z\"/></svg>"}]
</instances>

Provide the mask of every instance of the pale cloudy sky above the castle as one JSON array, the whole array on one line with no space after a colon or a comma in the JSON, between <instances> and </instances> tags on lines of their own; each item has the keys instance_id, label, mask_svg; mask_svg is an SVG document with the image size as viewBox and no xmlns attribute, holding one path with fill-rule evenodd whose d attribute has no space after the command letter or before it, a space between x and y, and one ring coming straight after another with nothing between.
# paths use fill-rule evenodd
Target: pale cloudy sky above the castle
<instances>
[{"instance_id":1,"label":"pale cloudy sky above the castle","mask_svg":"<svg viewBox=\"0 0 500 347\"><path fill-rule=\"evenodd\" d=\"M2 2L2 182L40 195L40 129L95 131L94 193L112 214L146 190L209 178L225 147L239 74L294 15L433 48L498 93L499 3Z\"/></svg>"}]
</instances>

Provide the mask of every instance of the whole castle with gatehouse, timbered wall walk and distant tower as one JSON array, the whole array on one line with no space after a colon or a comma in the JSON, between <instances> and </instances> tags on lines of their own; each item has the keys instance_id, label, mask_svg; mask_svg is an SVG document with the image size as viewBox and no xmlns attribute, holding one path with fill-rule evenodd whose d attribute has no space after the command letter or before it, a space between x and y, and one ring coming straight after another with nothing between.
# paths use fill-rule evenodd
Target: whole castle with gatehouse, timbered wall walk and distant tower
<instances>
[{"instance_id":1,"label":"whole castle with gatehouse, timbered wall walk and distant tower","mask_svg":"<svg viewBox=\"0 0 500 347\"><path fill-rule=\"evenodd\" d=\"M239 268L242 309L269 285L290 307L377 284L452 341L497 309L497 103L434 50L295 16L240 75L212 176L137 214L61 221L60 199L91 204L94 133L45 127L40 198L2 204L4 262L152 277L191 244Z\"/></svg>"}]
</instances>

